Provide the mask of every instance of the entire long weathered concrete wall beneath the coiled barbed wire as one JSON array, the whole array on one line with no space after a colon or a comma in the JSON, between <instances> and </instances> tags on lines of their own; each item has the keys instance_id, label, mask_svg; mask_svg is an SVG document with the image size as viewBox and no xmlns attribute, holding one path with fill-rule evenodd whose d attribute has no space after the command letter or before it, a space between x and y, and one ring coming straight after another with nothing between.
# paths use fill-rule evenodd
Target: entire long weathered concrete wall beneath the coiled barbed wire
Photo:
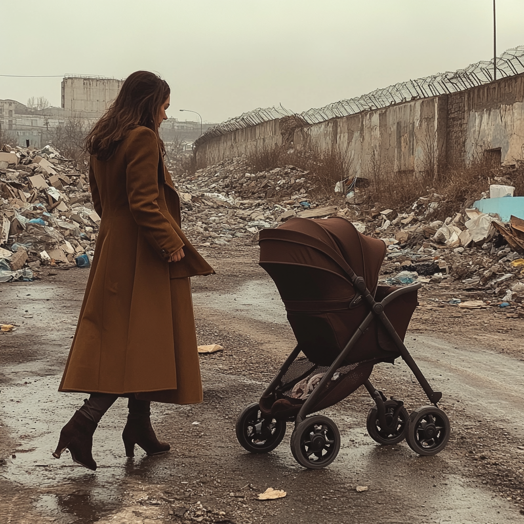
<instances>
[{"instance_id":1,"label":"entire long weathered concrete wall beneath the coiled barbed wire","mask_svg":"<svg viewBox=\"0 0 524 524\"><path fill-rule=\"evenodd\" d=\"M504 78L450 95L418 99L333 118L294 130L292 138L273 120L204 140L199 165L285 145L302 150L340 151L349 174L443 171L468 165L500 148L500 160L524 158L524 75Z\"/></svg>"}]
</instances>

